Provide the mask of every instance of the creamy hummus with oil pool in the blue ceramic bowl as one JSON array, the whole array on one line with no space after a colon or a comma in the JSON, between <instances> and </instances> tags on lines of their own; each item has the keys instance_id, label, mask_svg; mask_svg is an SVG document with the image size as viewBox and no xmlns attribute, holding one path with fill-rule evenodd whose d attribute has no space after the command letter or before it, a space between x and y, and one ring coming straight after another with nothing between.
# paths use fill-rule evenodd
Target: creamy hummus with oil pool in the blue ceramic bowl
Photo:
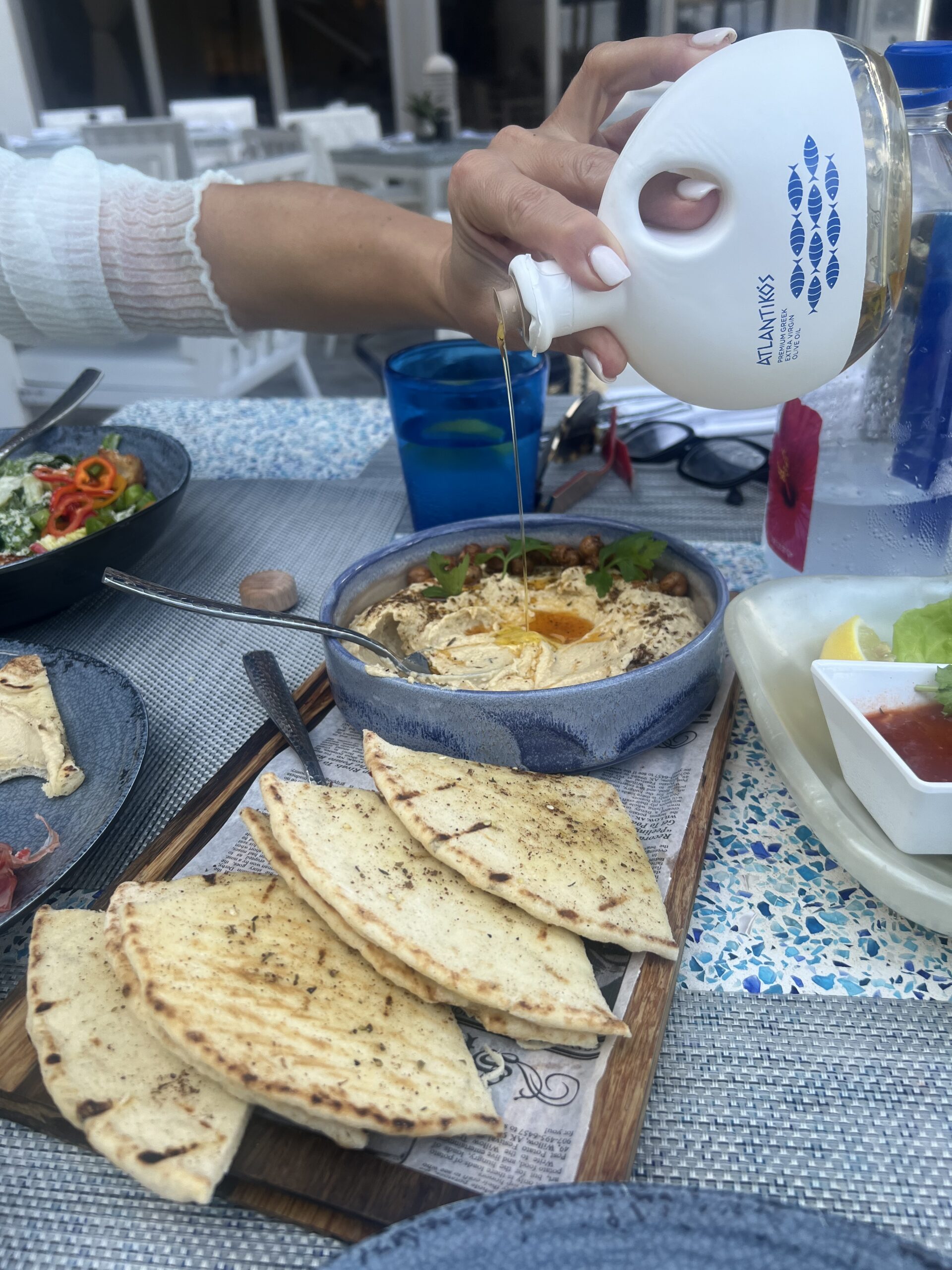
<instances>
[{"instance_id":1,"label":"creamy hummus with oil pool in the blue ceramic bowl","mask_svg":"<svg viewBox=\"0 0 952 1270\"><path fill-rule=\"evenodd\" d=\"M428 599L413 583L353 622L396 652L423 653L452 688L517 692L564 688L623 674L675 653L704 627L688 597L656 584L616 579L604 599L583 568L547 569L529 578L529 630L522 578L486 574L459 596ZM347 645L371 674L395 674L373 653Z\"/></svg>"}]
</instances>

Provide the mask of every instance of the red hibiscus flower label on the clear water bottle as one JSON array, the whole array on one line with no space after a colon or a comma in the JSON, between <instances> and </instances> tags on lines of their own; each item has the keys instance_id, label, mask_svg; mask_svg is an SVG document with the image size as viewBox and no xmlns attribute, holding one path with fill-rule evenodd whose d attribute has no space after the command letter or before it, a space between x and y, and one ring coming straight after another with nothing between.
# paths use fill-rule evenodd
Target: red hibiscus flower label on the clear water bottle
<instances>
[{"instance_id":1,"label":"red hibiscus flower label on the clear water bottle","mask_svg":"<svg viewBox=\"0 0 952 1270\"><path fill-rule=\"evenodd\" d=\"M767 542L798 573L803 572L823 418L795 398L781 414L770 450L767 486Z\"/></svg>"}]
</instances>

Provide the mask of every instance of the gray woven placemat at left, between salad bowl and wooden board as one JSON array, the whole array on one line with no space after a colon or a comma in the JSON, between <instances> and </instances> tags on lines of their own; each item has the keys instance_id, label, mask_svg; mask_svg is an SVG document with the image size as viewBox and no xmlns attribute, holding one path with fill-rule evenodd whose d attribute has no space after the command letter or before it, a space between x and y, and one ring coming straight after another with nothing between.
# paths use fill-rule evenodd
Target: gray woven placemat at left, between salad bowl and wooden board
<instances>
[{"instance_id":1,"label":"gray woven placemat at left, between salad bowl and wooden board","mask_svg":"<svg viewBox=\"0 0 952 1270\"><path fill-rule=\"evenodd\" d=\"M237 599L245 574L287 569L297 579L298 611L316 616L335 575L390 541L402 507L402 491L372 480L193 481L168 535L136 572L180 591ZM138 781L70 879L70 902L88 899L114 878L263 723L241 665L244 652L272 649L292 685L324 659L314 635L197 617L105 588L11 635L80 649L118 667L149 712ZM0 993L24 969L28 930L28 922L19 923L0 936Z\"/></svg>"}]
</instances>

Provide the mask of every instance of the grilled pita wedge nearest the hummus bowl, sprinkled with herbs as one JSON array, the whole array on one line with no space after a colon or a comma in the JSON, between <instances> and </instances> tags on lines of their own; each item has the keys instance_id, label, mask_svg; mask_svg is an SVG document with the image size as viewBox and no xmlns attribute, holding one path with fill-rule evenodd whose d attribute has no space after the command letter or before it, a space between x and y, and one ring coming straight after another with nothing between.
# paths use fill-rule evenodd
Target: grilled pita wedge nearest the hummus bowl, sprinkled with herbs
<instances>
[{"instance_id":1,"label":"grilled pita wedge nearest the hummus bowl, sprinkled with herbs","mask_svg":"<svg viewBox=\"0 0 952 1270\"><path fill-rule=\"evenodd\" d=\"M418 753L372 732L364 762L414 838L473 886L585 939L678 956L614 786Z\"/></svg>"}]
</instances>

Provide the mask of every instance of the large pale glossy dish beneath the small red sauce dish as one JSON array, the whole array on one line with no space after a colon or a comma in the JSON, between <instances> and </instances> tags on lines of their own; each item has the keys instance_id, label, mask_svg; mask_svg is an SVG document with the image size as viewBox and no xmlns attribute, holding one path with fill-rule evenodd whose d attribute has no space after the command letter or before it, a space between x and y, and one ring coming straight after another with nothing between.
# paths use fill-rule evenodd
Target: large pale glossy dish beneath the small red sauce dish
<instances>
[{"instance_id":1,"label":"large pale glossy dish beneath the small red sauce dish","mask_svg":"<svg viewBox=\"0 0 952 1270\"><path fill-rule=\"evenodd\" d=\"M725 632L750 711L803 819L863 886L914 922L952 935L952 857L900 851L843 779L810 667L859 613L892 639L906 608L952 596L952 578L783 578L727 606Z\"/></svg>"}]
</instances>

